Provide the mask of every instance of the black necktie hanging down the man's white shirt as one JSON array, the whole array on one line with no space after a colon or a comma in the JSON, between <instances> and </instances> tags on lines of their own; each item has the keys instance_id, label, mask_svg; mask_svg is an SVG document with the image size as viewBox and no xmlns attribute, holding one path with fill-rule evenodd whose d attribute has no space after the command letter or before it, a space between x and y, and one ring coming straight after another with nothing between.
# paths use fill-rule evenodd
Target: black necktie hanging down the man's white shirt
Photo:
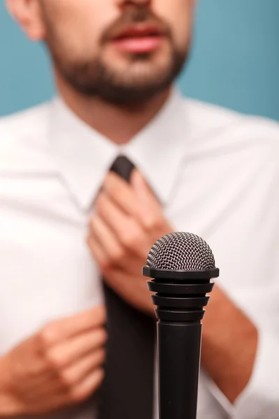
<instances>
[{"instance_id":1,"label":"black necktie hanging down the man's white shirt","mask_svg":"<svg viewBox=\"0 0 279 419\"><path fill-rule=\"evenodd\" d=\"M129 181L133 168L120 156L111 170ZM152 419L156 322L103 284L108 341L98 419Z\"/></svg>"}]
</instances>

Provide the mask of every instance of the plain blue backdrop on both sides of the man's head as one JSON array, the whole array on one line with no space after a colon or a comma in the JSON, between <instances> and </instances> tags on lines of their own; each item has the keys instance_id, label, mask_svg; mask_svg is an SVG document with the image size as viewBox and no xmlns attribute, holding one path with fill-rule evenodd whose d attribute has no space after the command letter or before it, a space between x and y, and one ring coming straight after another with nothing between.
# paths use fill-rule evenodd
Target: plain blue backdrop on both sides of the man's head
<instances>
[{"instance_id":1,"label":"plain blue backdrop on both sides of the man's head","mask_svg":"<svg viewBox=\"0 0 279 419\"><path fill-rule=\"evenodd\" d=\"M279 120L279 0L199 1L193 54L179 78L183 94ZM44 47L27 41L4 3L0 0L0 115L54 93Z\"/></svg>"}]
</instances>

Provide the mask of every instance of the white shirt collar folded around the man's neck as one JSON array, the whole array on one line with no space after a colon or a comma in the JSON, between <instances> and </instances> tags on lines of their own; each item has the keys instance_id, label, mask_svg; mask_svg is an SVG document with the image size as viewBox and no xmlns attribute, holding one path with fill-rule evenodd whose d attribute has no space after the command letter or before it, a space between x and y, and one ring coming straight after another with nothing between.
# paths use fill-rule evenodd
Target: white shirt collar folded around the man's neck
<instances>
[{"instance_id":1,"label":"white shirt collar folded around the man's neck","mask_svg":"<svg viewBox=\"0 0 279 419\"><path fill-rule=\"evenodd\" d=\"M121 147L82 122L58 97L50 113L50 152L83 210L91 207L119 154L137 166L165 205L185 156L186 130L185 102L176 89L158 115Z\"/></svg>"}]
</instances>

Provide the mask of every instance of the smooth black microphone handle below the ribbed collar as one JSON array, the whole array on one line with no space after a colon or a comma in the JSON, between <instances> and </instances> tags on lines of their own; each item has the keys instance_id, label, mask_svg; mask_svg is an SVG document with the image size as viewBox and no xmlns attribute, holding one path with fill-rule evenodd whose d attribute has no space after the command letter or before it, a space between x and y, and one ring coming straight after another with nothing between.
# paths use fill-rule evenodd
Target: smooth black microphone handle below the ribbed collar
<instances>
[{"instance_id":1,"label":"smooth black microphone handle below the ribbed collar","mask_svg":"<svg viewBox=\"0 0 279 419\"><path fill-rule=\"evenodd\" d=\"M202 325L158 321L160 419L196 419Z\"/></svg>"}]
</instances>

